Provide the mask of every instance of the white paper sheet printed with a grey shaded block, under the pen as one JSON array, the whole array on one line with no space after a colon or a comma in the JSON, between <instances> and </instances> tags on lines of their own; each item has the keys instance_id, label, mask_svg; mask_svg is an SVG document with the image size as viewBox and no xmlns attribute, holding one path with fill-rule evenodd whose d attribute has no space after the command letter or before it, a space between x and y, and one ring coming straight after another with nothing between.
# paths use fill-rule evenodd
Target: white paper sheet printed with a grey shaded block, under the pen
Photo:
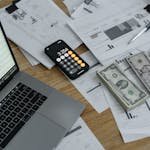
<instances>
[{"instance_id":1,"label":"white paper sheet printed with a grey shaded block, under the pen","mask_svg":"<svg viewBox=\"0 0 150 150\"><path fill-rule=\"evenodd\" d=\"M141 5L143 3L141 1ZM69 25L94 56L104 64L104 61L149 40L147 37L150 33L147 33L137 42L128 45L128 41L150 21L149 14L139 9L139 5L140 2L137 7L135 5L131 10L129 8L128 12L121 13L118 10L120 13L116 14L115 11L115 14L112 13L109 17L104 15L105 10L103 10L103 13L94 13L95 16L90 15L70 21Z\"/></svg>"}]
</instances>

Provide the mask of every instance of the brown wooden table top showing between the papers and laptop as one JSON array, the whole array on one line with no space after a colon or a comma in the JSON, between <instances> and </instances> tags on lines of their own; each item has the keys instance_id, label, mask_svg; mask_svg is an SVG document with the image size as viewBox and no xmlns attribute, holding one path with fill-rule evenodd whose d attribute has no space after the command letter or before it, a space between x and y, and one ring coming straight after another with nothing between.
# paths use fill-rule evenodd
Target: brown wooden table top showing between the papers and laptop
<instances>
[{"instance_id":1,"label":"brown wooden table top showing between the papers and laptop","mask_svg":"<svg viewBox=\"0 0 150 150\"><path fill-rule=\"evenodd\" d=\"M1 0L0 7L9 4L11 1L12 0ZM58 6L67 13L65 7L60 1L61 0L55 0ZM46 69L42 65L32 67L19 51L17 46L12 42L10 42L10 44L19 64L20 70L27 72L45 84L56 88L57 90L75 98L76 100L79 100L81 103L86 105L82 118L86 121L89 128L93 131L97 139L103 144L106 150L150 149L149 138L124 144L110 109L98 114L56 67L51 70ZM78 52L83 52L86 48L82 45L77 50Z\"/></svg>"}]
</instances>

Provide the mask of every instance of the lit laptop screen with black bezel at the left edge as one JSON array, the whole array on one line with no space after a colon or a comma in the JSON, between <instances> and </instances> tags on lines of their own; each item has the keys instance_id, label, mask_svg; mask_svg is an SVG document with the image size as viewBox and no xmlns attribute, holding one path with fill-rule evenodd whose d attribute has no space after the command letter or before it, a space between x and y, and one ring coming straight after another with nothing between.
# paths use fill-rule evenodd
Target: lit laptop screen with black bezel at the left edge
<instances>
[{"instance_id":1,"label":"lit laptop screen with black bezel at the left edge","mask_svg":"<svg viewBox=\"0 0 150 150\"><path fill-rule=\"evenodd\" d=\"M0 28L0 89L13 74L17 66L13 55L5 39L2 28Z\"/></svg>"}]
</instances>

